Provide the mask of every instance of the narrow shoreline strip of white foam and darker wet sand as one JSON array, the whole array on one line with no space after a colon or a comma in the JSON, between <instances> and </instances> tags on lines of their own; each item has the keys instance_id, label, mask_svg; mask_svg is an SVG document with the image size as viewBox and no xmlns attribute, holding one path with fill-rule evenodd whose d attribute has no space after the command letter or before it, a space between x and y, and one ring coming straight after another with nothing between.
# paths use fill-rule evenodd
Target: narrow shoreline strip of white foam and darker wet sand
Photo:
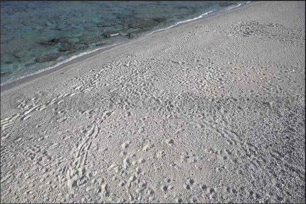
<instances>
[{"instance_id":1,"label":"narrow shoreline strip of white foam and darker wet sand","mask_svg":"<svg viewBox=\"0 0 306 204\"><path fill-rule=\"evenodd\" d=\"M250 3L248 3L248 4L242 4L242 5L240 5L239 7L232 8L232 9L230 9L230 10L228 10L228 11L232 11L232 10L237 9L237 8L242 8L242 7L246 6L246 5L254 4L254 3L257 3L257 2L258 2L258 1L250 2ZM228 11L225 11L225 12L223 12L223 13L226 13L226 12L228 12ZM165 30L168 30L168 29L177 28L177 27L179 27L179 26L183 26L183 25L188 24L188 23L192 23L192 22L196 22L196 21L205 20L205 19L207 19L207 18L211 18L211 17L214 17L214 16L222 15L223 13L221 13L221 14L215 14L215 15L212 15L212 16L209 16L209 17L203 16L203 17L201 17L201 18L198 18L198 19L195 19L195 20L191 20L191 21L187 21L187 22L183 22L183 23L179 22L177 25L172 26L172 27L170 27L170 28L163 28L163 29L161 29L161 30L152 31L151 34L153 34L153 33L159 33L159 32L162 32L162 31L165 31ZM150 34L150 35L151 35L151 34ZM11 82L9 82L9 83L7 83L7 84L4 84L4 85L2 85L2 86L0 87L0 93L5 92L5 91L10 90L10 89L13 89L13 88L15 88L15 87L17 87L17 86L26 84L26 83L28 83L28 82L30 82L30 81L32 81L32 80L39 79L39 78L42 77L42 76L45 76L45 75L51 74L51 73L53 73L53 72L56 72L56 71L58 71L58 70L60 70L60 69L62 69L62 68L64 68L64 67L66 67L66 66L69 66L69 65L71 65L71 64L80 62L80 61L82 61L82 60L84 60L84 59L93 57L93 56L95 56L95 55L103 54L103 52L105 52L105 51L107 51L107 50L110 50L110 49L112 49L112 48L115 48L115 47L117 47L117 46L121 46L121 45L124 45L124 44L132 43L132 42L134 42L134 40L138 40L138 39L140 39L140 38L147 37L147 36L149 36L149 35L139 36L139 37L137 37L137 38L135 38L135 39L133 39L133 40L131 40L131 41L129 41L129 42L119 43L118 45L117 45L117 44L115 44L115 45L110 45L110 46L107 47L107 48L102 48L102 49L99 49L99 50L96 50L96 51L93 51L93 52L90 51L90 53L88 53L88 54L85 54L85 55L82 55L82 56L77 57L77 58L75 58L75 59L72 59L72 60L70 60L69 62L65 62L65 63L63 63L63 64L60 64L60 65L54 67L54 68L47 69L47 70L44 70L44 71L40 71L39 73L31 74L31 75L29 75L29 76L25 76L25 77L22 77L22 78L20 78L20 79L11 81ZM88 51L86 51L86 52L88 52ZM54 66L54 65L53 65L53 66ZM48 68L48 67L47 67L47 68ZM36 71L36 72L37 72L37 71Z\"/></svg>"}]
</instances>

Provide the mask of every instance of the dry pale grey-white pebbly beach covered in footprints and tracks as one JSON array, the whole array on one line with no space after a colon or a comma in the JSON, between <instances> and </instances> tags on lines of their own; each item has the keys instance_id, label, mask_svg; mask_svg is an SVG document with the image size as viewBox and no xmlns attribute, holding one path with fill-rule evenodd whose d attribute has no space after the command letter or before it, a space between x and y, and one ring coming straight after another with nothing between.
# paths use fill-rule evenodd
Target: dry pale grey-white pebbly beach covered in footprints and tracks
<instances>
[{"instance_id":1,"label":"dry pale grey-white pebbly beach covered in footprints and tracks","mask_svg":"<svg viewBox=\"0 0 306 204\"><path fill-rule=\"evenodd\" d=\"M1 203L304 203L305 2L257 2L1 93Z\"/></svg>"}]
</instances>

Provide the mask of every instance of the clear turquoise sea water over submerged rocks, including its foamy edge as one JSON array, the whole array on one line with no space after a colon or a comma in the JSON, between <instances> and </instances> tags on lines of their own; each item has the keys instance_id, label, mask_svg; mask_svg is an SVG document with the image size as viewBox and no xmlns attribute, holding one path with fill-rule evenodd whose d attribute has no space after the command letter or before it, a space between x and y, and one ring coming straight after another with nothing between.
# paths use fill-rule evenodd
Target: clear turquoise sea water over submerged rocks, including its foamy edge
<instances>
[{"instance_id":1,"label":"clear turquoise sea water over submerged rocks, including its foamy edge","mask_svg":"<svg viewBox=\"0 0 306 204\"><path fill-rule=\"evenodd\" d=\"M1 86L250 2L1 2Z\"/></svg>"}]
</instances>

